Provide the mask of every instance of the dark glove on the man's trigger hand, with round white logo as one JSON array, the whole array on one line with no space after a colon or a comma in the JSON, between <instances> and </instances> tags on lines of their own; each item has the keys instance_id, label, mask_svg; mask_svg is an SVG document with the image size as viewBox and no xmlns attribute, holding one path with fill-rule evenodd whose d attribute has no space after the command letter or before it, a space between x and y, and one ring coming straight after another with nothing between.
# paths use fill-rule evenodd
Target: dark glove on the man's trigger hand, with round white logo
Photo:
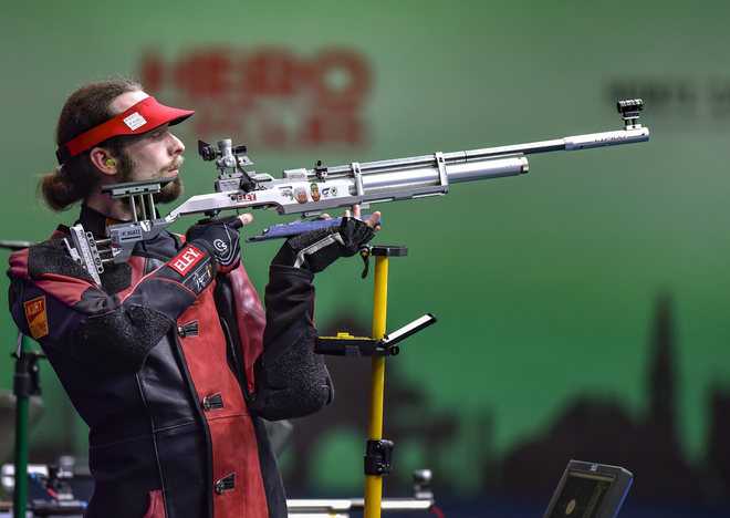
<instances>
[{"instance_id":1,"label":"dark glove on the man's trigger hand, with round white logo","mask_svg":"<svg viewBox=\"0 0 730 518\"><path fill-rule=\"evenodd\" d=\"M241 262L239 229L241 220L233 216L212 221L198 221L187 231L187 242L205 248L216 258L218 273L228 273Z\"/></svg>"}]
</instances>

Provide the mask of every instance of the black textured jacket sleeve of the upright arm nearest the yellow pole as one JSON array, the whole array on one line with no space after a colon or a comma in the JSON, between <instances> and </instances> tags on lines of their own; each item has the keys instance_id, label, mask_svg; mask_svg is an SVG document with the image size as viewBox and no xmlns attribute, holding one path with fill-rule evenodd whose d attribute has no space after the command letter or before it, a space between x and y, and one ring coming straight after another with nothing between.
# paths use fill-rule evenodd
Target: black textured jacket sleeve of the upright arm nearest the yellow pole
<instances>
[{"instance_id":1,"label":"black textured jacket sleeve of the upright arm nearest the yellow pole","mask_svg":"<svg viewBox=\"0 0 730 518\"><path fill-rule=\"evenodd\" d=\"M314 353L313 278L285 266L272 265L269 271L263 353L254 366L251 408L270 421L312 414L334 397L324 360Z\"/></svg>"}]
</instances>

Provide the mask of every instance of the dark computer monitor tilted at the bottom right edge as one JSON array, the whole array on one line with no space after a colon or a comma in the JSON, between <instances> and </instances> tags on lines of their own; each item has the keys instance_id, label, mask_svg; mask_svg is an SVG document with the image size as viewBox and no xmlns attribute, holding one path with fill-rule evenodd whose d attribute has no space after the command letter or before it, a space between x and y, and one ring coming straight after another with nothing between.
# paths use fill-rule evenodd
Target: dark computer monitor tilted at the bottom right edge
<instances>
[{"instance_id":1,"label":"dark computer monitor tilted at the bottom right edge","mask_svg":"<svg viewBox=\"0 0 730 518\"><path fill-rule=\"evenodd\" d=\"M571 460L543 518L615 518L633 479L619 466Z\"/></svg>"}]
</instances>

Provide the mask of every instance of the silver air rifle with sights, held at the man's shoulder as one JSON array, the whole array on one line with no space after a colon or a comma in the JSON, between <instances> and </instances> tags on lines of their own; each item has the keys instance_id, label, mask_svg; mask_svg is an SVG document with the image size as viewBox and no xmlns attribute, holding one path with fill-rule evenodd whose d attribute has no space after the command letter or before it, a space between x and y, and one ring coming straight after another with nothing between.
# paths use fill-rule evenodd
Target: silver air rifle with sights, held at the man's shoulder
<instances>
[{"instance_id":1,"label":"silver air rifle with sights, held at the man's shoulder","mask_svg":"<svg viewBox=\"0 0 730 518\"><path fill-rule=\"evenodd\" d=\"M528 173L526 155L646 142L649 130L638 123L643 108L640 99L618 101L624 128L617 131L335 167L319 162L312 169L286 169L282 178L252 170L246 146L233 146L231 139L220 141L217 146L199 141L198 153L204 160L215 162L218 169L215 193L192 196L158 218L154 196L171 179L106 186L103 191L113 198L128 200L134 220L108 226L108 238L97 241L76 225L71 228L66 248L101 284L98 274L104 265L125 262L137 242L154 238L180 216L215 217L221 210L274 208L281 215L309 217L355 204L441 196L452 184Z\"/></svg>"}]
</instances>

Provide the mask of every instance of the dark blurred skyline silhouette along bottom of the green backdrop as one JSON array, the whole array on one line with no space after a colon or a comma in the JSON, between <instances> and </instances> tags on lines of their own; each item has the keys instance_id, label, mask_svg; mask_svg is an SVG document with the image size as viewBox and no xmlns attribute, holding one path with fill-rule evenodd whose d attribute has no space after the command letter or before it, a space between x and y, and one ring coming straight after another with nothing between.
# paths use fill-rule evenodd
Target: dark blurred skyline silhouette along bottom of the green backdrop
<instances>
[{"instance_id":1,"label":"dark blurred skyline silhouette along bottom of the green backdrop","mask_svg":"<svg viewBox=\"0 0 730 518\"><path fill-rule=\"evenodd\" d=\"M657 298L650 323L649 360L646 367L647 408L643 417L629 415L618 400L581 394L567 402L565 410L544 433L515 445L503 458L491 448L494 426L484 412L471 429L468 447L482 466L480 473L463 477L478 478L476 486L488 493L533 495L552 493L570 458L626 466L636 479L633 498L677 500L730 499L730 393L713 387L709 397L710 426L707 458L692 466L686 458L677 429L677 372L675 366L675 330L669 296ZM346 318L334 322L324 334L350 330L366 335L363 324ZM352 429L365 441L367 429L369 361L366 359L327 358L335 382L335 403L325 414L296 421L292 441L294 460L288 472L290 488L312 489L309 476L315 473L314 457L319 442L333 429ZM428 397L416 384L398 374L397 362L390 362L386 380L385 436L396 443L398 452L409 443L423 445L424 467L435 474L437 490L450 493L459 487L448 477L445 459L455 441L463 441L466 426L460 414L428 410ZM409 474L397 473L386 478L392 494L407 491Z\"/></svg>"}]
</instances>

